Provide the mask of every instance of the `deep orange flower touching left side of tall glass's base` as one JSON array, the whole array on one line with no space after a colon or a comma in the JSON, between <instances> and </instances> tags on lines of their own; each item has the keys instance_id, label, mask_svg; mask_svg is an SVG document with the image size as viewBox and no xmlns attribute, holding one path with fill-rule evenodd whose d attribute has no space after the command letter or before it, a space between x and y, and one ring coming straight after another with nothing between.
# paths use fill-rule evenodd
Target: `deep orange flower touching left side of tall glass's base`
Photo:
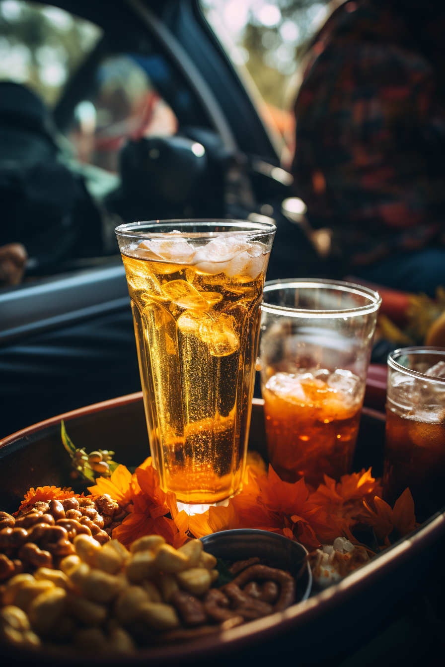
<instances>
[{"instance_id":1,"label":"deep orange flower touching left side of tall glass's base","mask_svg":"<svg viewBox=\"0 0 445 667\"><path fill-rule=\"evenodd\" d=\"M155 533L176 548L181 546L187 540L187 534L185 530L179 530L173 520L178 516L175 494L165 493L159 486L159 474L151 464L151 457L136 469L130 483L127 476L125 480L125 488L129 486L125 493L131 499L127 510L131 514L113 530L113 538L129 545L143 535ZM165 514L171 514L173 518L167 518Z\"/></svg>"}]
</instances>

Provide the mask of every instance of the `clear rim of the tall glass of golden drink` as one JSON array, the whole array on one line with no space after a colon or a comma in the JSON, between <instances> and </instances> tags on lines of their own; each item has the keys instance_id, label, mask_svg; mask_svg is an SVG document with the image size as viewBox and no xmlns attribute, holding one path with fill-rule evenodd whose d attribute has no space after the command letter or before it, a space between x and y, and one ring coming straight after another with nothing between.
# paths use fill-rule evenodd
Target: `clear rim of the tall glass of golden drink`
<instances>
[{"instance_id":1,"label":"clear rim of the tall glass of golden drink","mask_svg":"<svg viewBox=\"0 0 445 667\"><path fill-rule=\"evenodd\" d=\"M250 237L263 236L264 234L271 234L276 231L276 225L272 222L250 222L249 220L238 220L228 218L185 218L185 219L170 219L170 220L146 220L143 222L130 222L124 225L119 225L115 228L115 233L119 236L125 236L129 239L163 239L168 232L166 231L152 231L159 225L171 227L195 227L196 225L207 225L208 227L225 226L231 227L230 233L248 233ZM232 231L233 230L233 231ZM228 231L180 231L175 237L169 237L171 240L177 239L205 239L214 238L221 234L227 234Z\"/></svg>"}]
</instances>

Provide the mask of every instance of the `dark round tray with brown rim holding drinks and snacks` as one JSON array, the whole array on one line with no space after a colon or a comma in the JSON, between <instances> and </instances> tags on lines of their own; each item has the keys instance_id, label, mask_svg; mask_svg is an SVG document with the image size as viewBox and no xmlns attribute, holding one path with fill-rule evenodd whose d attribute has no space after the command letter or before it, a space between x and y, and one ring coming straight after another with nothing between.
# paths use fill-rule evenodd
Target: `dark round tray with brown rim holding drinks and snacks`
<instances>
[{"instance_id":1,"label":"dark round tray with brown rim holding drinks and snacks","mask_svg":"<svg viewBox=\"0 0 445 667\"><path fill-rule=\"evenodd\" d=\"M77 446L116 452L116 460L135 466L149 456L142 395L131 394L30 426L0 441L0 510L17 510L31 486L71 486L69 456L60 439L60 420L67 423ZM373 466L382 473L384 415L364 408L354 470ZM263 402L254 400L250 428L251 449L266 458ZM280 660L328 660L338 664L395 622L409 604L416 604L434 576L428 567L445 546L445 513L438 512L409 538L400 540L336 586L290 607L285 612L234 628L193 644L142 650L134 656L79 656L33 654L33 664L149 664L191 665L209 660L212 667L237 664L270 665ZM17 649L3 652L25 660Z\"/></svg>"}]
</instances>

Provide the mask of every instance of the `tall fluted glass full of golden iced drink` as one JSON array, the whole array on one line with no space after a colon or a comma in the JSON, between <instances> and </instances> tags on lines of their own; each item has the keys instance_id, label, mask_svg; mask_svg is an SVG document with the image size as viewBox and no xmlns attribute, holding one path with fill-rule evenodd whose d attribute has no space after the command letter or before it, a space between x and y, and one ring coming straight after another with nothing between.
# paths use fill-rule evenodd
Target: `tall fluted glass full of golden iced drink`
<instances>
[{"instance_id":1,"label":"tall fluted glass full of golden iced drink","mask_svg":"<svg viewBox=\"0 0 445 667\"><path fill-rule=\"evenodd\" d=\"M133 309L153 463L184 504L242 481L272 223L117 227Z\"/></svg>"}]
</instances>

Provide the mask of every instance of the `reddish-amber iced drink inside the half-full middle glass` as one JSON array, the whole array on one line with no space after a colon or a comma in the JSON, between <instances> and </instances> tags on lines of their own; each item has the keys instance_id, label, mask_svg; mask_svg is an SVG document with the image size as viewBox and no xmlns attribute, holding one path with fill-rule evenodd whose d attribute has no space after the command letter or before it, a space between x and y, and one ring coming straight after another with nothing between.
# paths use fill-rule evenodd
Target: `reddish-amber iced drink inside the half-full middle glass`
<instances>
[{"instance_id":1,"label":"reddish-amber iced drink inside the half-full middle glass","mask_svg":"<svg viewBox=\"0 0 445 667\"><path fill-rule=\"evenodd\" d=\"M317 374L279 373L262 388L272 467L286 482L304 477L314 487L324 474L339 480L350 470L364 393L358 378L352 398ZM352 377L344 371L325 374Z\"/></svg>"}]
</instances>

